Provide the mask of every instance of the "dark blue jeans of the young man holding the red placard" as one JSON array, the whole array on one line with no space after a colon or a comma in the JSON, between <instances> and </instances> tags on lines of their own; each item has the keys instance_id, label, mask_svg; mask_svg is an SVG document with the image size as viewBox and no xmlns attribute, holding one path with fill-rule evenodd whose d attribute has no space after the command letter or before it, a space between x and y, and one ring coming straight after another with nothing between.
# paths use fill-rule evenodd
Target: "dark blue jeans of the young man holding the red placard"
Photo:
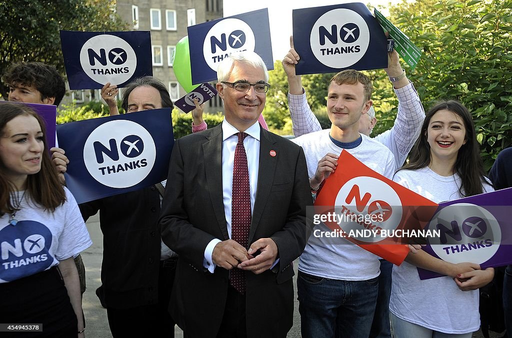
<instances>
[{"instance_id":1,"label":"dark blue jeans of the young man holding the red placard","mask_svg":"<svg viewBox=\"0 0 512 338\"><path fill-rule=\"evenodd\" d=\"M298 310L303 338L368 338L378 278L344 281L298 272Z\"/></svg>"}]
</instances>

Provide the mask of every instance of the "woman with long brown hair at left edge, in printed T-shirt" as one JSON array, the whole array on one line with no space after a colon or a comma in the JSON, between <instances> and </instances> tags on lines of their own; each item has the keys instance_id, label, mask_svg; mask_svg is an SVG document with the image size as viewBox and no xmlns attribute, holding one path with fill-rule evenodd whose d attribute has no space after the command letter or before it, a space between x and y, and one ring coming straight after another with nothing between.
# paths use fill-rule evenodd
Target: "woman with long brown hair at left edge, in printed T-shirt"
<instances>
[{"instance_id":1,"label":"woman with long brown hair at left edge, in printed T-shirt","mask_svg":"<svg viewBox=\"0 0 512 338\"><path fill-rule=\"evenodd\" d=\"M91 244L73 195L59 184L44 122L23 104L0 104L0 321L39 324L42 332L30 336L82 337L73 256Z\"/></svg>"}]
</instances>

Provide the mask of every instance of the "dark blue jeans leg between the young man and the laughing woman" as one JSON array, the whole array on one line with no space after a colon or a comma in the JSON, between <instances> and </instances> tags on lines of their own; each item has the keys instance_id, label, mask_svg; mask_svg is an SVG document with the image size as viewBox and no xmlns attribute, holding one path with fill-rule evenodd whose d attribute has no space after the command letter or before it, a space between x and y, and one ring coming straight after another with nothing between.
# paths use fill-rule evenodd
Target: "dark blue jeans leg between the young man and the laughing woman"
<instances>
[{"instance_id":1,"label":"dark blue jeans leg between the young man and the laughing woman","mask_svg":"<svg viewBox=\"0 0 512 338\"><path fill-rule=\"evenodd\" d=\"M393 263L380 259L379 294L373 315L370 338L391 338L389 299L391 297L391 275Z\"/></svg>"}]
</instances>

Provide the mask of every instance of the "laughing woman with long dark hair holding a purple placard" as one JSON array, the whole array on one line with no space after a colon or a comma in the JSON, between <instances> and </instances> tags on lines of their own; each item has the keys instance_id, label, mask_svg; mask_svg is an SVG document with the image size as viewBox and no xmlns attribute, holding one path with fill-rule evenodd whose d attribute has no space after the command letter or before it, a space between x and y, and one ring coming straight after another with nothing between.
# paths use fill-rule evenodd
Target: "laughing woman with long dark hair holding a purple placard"
<instances>
[{"instance_id":1,"label":"laughing woman with long dark hair holding a purple placard","mask_svg":"<svg viewBox=\"0 0 512 338\"><path fill-rule=\"evenodd\" d=\"M466 107L457 101L435 104L426 114L409 164L393 179L437 203L493 191ZM416 266L446 276L420 280ZM423 251L409 255L393 267L390 311L395 337L470 338L480 327L478 288L493 276L493 268L481 270L478 264L452 264Z\"/></svg>"}]
</instances>

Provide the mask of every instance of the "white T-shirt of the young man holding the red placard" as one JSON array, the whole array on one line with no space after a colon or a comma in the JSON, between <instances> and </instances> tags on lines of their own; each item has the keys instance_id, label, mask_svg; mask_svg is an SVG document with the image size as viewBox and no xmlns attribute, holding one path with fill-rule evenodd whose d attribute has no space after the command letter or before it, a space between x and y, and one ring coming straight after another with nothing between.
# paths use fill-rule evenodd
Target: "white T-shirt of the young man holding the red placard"
<instances>
[{"instance_id":1,"label":"white T-shirt of the young man holding the red placard","mask_svg":"<svg viewBox=\"0 0 512 338\"><path fill-rule=\"evenodd\" d=\"M393 153L381 143L361 134L362 142L353 149L336 146L329 138L330 129L305 134L292 141L304 149L309 177L313 177L318 161L328 152L339 154L348 151L359 161L379 174L393 177L395 159ZM338 163L337 170L343 170ZM324 224L315 230L331 231ZM311 235L301 255L298 269L304 273L337 280L360 281L379 275L380 262L374 254L344 238L315 237Z\"/></svg>"}]
</instances>

